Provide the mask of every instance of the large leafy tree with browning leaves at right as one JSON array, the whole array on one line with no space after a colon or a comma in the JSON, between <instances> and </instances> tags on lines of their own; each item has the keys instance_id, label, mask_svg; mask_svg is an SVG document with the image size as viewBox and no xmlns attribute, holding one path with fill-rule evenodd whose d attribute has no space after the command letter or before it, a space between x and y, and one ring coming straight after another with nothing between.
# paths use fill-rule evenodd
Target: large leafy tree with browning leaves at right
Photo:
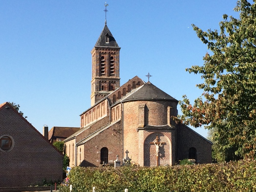
<instances>
[{"instance_id":1,"label":"large leafy tree with browning leaves at right","mask_svg":"<svg viewBox=\"0 0 256 192\"><path fill-rule=\"evenodd\" d=\"M255 0L253 0L255 2ZM180 101L183 115L176 120L193 127L216 127L212 138L223 150L237 147L236 155L255 157L256 152L256 5L238 0L238 19L224 14L220 31L202 31L192 25L210 54L203 66L186 71L201 74L203 90L192 105L186 95ZM223 123L225 122L225 123Z\"/></svg>"}]
</instances>

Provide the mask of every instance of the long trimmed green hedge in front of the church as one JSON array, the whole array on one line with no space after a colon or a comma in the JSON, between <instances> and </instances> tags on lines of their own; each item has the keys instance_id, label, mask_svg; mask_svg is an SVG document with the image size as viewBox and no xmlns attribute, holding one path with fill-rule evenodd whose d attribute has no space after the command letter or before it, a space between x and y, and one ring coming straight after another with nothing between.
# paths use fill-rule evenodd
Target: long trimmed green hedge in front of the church
<instances>
[{"instance_id":1,"label":"long trimmed green hedge in front of the church","mask_svg":"<svg viewBox=\"0 0 256 192\"><path fill-rule=\"evenodd\" d=\"M256 191L256 161L160 167L74 167L73 192ZM69 191L68 187L60 191Z\"/></svg>"}]
</instances>

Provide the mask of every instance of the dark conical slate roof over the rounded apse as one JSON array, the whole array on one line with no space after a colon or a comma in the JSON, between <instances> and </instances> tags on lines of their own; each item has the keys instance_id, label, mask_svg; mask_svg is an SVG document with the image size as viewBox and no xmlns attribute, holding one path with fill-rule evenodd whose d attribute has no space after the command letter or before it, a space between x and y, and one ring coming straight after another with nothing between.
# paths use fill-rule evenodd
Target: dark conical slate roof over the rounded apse
<instances>
[{"instance_id":1,"label":"dark conical slate roof over the rounded apse","mask_svg":"<svg viewBox=\"0 0 256 192\"><path fill-rule=\"evenodd\" d=\"M143 86L139 87L134 93L123 99L124 101L131 100L172 100L177 101L172 96L168 95L152 83L147 82Z\"/></svg>"}]
</instances>

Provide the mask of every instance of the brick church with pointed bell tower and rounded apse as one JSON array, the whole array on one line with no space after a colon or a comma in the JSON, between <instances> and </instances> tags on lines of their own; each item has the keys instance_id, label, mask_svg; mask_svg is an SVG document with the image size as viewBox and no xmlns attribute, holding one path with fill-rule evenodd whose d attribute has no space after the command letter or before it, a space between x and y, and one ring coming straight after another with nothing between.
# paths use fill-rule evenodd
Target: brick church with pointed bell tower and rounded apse
<instances>
[{"instance_id":1,"label":"brick church with pointed bell tower and rounded apse","mask_svg":"<svg viewBox=\"0 0 256 192\"><path fill-rule=\"evenodd\" d=\"M211 163L212 143L172 120L176 99L138 76L120 86L120 49L105 22L91 51L91 107L80 114L79 131L64 140L69 165L101 166L128 152L140 166L185 158Z\"/></svg>"}]
</instances>

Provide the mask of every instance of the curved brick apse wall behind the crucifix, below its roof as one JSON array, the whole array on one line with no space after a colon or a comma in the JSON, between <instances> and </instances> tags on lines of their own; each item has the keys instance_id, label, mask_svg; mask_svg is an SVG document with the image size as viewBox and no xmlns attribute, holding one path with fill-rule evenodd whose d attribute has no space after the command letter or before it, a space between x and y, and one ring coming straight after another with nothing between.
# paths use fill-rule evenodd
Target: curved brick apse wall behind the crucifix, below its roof
<instances>
[{"instance_id":1,"label":"curved brick apse wall behind the crucifix, below its roof","mask_svg":"<svg viewBox=\"0 0 256 192\"><path fill-rule=\"evenodd\" d=\"M162 156L159 156L160 165L173 165L176 159L176 131L170 130L137 130L141 127L140 116L142 110L139 106L144 106L144 124L146 125L166 125L168 123L167 114L176 114L176 102L173 101L131 101L124 103L124 151L129 151L132 161L143 166L153 166L156 163L155 146L153 142L156 135L162 136L165 146L162 146ZM174 109L167 112L171 106ZM161 151L160 151L161 152Z\"/></svg>"}]
</instances>

